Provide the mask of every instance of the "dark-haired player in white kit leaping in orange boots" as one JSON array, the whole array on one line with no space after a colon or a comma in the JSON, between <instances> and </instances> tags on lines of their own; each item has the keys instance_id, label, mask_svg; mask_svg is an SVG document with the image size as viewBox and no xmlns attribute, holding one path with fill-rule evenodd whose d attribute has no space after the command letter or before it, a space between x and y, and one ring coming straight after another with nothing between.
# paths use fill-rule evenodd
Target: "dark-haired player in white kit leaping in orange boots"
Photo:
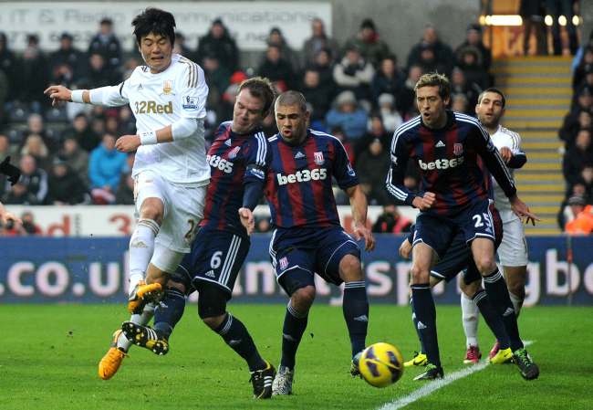
<instances>
[{"instance_id":1,"label":"dark-haired player in white kit leaping in orange boots","mask_svg":"<svg viewBox=\"0 0 593 410\"><path fill-rule=\"evenodd\" d=\"M172 54L175 19L149 7L131 25L146 66L134 70L118 86L70 91L63 86L45 92L59 101L107 107L130 104L136 135L116 142L120 152L137 150L135 179L136 230L130 239L131 321L146 325L169 276L191 250L203 218L210 166L206 163L203 120L208 87L203 69ZM99 376L109 379L127 356L130 342L113 335L99 363Z\"/></svg>"}]
</instances>

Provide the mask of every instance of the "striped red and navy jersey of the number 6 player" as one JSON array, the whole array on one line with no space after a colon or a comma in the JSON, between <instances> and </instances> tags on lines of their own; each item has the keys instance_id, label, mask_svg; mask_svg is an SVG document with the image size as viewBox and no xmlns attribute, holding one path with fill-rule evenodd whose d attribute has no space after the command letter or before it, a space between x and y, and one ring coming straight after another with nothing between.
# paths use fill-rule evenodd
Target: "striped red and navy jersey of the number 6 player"
<instances>
[{"instance_id":1,"label":"striped red and navy jersey of the number 6 player","mask_svg":"<svg viewBox=\"0 0 593 410\"><path fill-rule=\"evenodd\" d=\"M218 127L208 151L210 184L200 226L231 229L237 235L247 237L239 217L244 184L257 182L264 187L272 151L261 128L248 134L237 134L231 130L231 124L232 121L226 121Z\"/></svg>"}]
</instances>

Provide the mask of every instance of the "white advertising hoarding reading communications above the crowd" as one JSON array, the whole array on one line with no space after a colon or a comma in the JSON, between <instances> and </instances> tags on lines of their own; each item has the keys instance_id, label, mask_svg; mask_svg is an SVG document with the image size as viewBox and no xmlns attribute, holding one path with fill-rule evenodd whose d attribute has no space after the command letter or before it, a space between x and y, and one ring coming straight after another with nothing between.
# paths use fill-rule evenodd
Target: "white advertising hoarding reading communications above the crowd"
<instances>
[{"instance_id":1,"label":"white advertising hoarding reading communications above the crowd","mask_svg":"<svg viewBox=\"0 0 593 410\"><path fill-rule=\"evenodd\" d=\"M26 48L29 34L39 37L42 49L56 50L65 31L74 37L75 47L86 51L90 38L99 31L101 19L109 17L121 46L130 51L134 47L131 20L146 6L131 2L2 3L0 31L8 37L8 47L16 51ZM175 16L177 29L192 49L219 17L244 51L264 50L265 39L275 26L282 30L290 46L299 50L311 36L311 21L316 17L325 22L326 31L331 33L331 4L323 2L172 2L162 8Z\"/></svg>"}]
</instances>

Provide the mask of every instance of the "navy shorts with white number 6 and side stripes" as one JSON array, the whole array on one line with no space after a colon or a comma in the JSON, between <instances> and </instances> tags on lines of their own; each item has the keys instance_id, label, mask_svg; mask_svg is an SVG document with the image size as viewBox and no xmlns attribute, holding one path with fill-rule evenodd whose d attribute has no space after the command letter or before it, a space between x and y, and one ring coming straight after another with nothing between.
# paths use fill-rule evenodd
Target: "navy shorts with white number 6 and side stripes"
<instances>
[{"instance_id":1,"label":"navy shorts with white number 6 and side stripes","mask_svg":"<svg viewBox=\"0 0 593 410\"><path fill-rule=\"evenodd\" d=\"M186 254L173 279L182 279L187 289L187 280L195 284L203 280L233 294L234 282L249 253L251 241L231 232L201 227L192 244L192 252Z\"/></svg>"}]
</instances>

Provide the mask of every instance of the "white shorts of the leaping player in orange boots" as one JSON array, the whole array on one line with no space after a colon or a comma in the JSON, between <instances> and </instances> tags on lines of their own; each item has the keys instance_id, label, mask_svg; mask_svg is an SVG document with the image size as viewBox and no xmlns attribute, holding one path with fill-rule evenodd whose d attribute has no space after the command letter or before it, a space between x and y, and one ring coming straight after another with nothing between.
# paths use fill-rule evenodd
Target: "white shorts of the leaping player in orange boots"
<instances>
[{"instance_id":1,"label":"white shorts of the leaping player in orange boots","mask_svg":"<svg viewBox=\"0 0 593 410\"><path fill-rule=\"evenodd\" d=\"M161 199L165 210L155 243L176 252L188 253L203 219L207 186L207 182L199 185L172 184L156 171L142 171L134 181L134 216L136 219L140 217L140 205L145 199Z\"/></svg>"}]
</instances>

